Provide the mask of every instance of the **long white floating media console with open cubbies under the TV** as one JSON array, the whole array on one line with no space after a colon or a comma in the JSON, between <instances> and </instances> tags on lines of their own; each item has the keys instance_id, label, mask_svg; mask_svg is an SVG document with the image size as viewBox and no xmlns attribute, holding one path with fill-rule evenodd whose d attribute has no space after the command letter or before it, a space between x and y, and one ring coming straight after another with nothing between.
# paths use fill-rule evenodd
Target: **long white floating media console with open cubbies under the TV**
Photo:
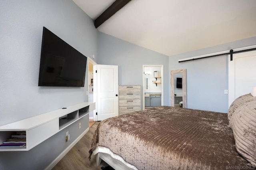
<instances>
[{"instance_id":1,"label":"long white floating media console with open cubbies under the TV","mask_svg":"<svg viewBox=\"0 0 256 170\"><path fill-rule=\"evenodd\" d=\"M0 147L0 151L30 150L94 110L95 103L84 102L3 125L0 127L0 144L12 133L26 131L26 146Z\"/></svg>"}]
</instances>

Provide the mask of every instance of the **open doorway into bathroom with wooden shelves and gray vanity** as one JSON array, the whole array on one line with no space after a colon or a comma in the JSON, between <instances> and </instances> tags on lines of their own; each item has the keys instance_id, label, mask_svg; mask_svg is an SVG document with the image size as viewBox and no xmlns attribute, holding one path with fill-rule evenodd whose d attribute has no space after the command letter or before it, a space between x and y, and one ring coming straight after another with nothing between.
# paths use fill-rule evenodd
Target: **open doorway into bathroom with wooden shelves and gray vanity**
<instances>
[{"instance_id":1,"label":"open doorway into bathroom with wooden shelves and gray vanity","mask_svg":"<svg viewBox=\"0 0 256 170\"><path fill-rule=\"evenodd\" d=\"M163 105L163 65L143 65L143 110Z\"/></svg>"}]
</instances>

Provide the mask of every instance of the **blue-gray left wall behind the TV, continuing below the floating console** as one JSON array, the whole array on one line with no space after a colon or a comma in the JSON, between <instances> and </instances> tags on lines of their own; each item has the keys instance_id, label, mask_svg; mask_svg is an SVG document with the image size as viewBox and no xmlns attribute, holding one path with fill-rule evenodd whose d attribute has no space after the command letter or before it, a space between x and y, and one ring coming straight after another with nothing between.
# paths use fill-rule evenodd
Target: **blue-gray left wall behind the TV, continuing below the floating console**
<instances>
[{"instance_id":1,"label":"blue-gray left wall behind the TV, continuing below the floating console","mask_svg":"<svg viewBox=\"0 0 256 170\"><path fill-rule=\"evenodd\" d=\"M38 87L38 75L43 26L85 56L98 55L89 16L72 0L2 0L0 18L0 125L88 101L88 74L84 88ZM43 169L81 131L77 122L28 152L0 152L0 170Z\"/></svg>"}]
</instances>

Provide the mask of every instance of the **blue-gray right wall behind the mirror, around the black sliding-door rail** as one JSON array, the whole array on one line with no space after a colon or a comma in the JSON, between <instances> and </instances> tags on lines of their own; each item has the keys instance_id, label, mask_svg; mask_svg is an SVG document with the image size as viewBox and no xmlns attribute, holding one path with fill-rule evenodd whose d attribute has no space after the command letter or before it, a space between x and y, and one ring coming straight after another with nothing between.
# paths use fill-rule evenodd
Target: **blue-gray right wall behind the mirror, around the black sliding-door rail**
<instances>
[{"instance_id":1,"label":"blue-gray right wall behind the mirror, around the black sliding-door rail","mask_svg":"<svg viewBox=\"0 0 256 170\"><path fill-rule=\"evenodd\" d=\"M169 72L176 69L187 69L187 107L190 109L228 112L228 95L224 94L224 90L228 89L228 56L222 55L183 63L178 63L178 59L255 44L256 37L252 37L170 56Z\"/></svg>"}]
</instances>

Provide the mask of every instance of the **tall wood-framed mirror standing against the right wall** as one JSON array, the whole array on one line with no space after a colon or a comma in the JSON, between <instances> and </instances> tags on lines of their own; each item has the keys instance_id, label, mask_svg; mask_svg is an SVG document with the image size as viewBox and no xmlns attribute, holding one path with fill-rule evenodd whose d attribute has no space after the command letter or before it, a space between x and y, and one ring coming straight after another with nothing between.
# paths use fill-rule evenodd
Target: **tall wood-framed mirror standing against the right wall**
<instances>
[{"instance_id":1,"label":"tall wood-framed mirror standing against the right wall","mask_svg":"<svg viewBox=\"0 0 256 170\"><path fill-rule=\"evenodd\" d=\"M187 108L186 69L171 71L171 106Z\"/></svg>"}]
</instances>

